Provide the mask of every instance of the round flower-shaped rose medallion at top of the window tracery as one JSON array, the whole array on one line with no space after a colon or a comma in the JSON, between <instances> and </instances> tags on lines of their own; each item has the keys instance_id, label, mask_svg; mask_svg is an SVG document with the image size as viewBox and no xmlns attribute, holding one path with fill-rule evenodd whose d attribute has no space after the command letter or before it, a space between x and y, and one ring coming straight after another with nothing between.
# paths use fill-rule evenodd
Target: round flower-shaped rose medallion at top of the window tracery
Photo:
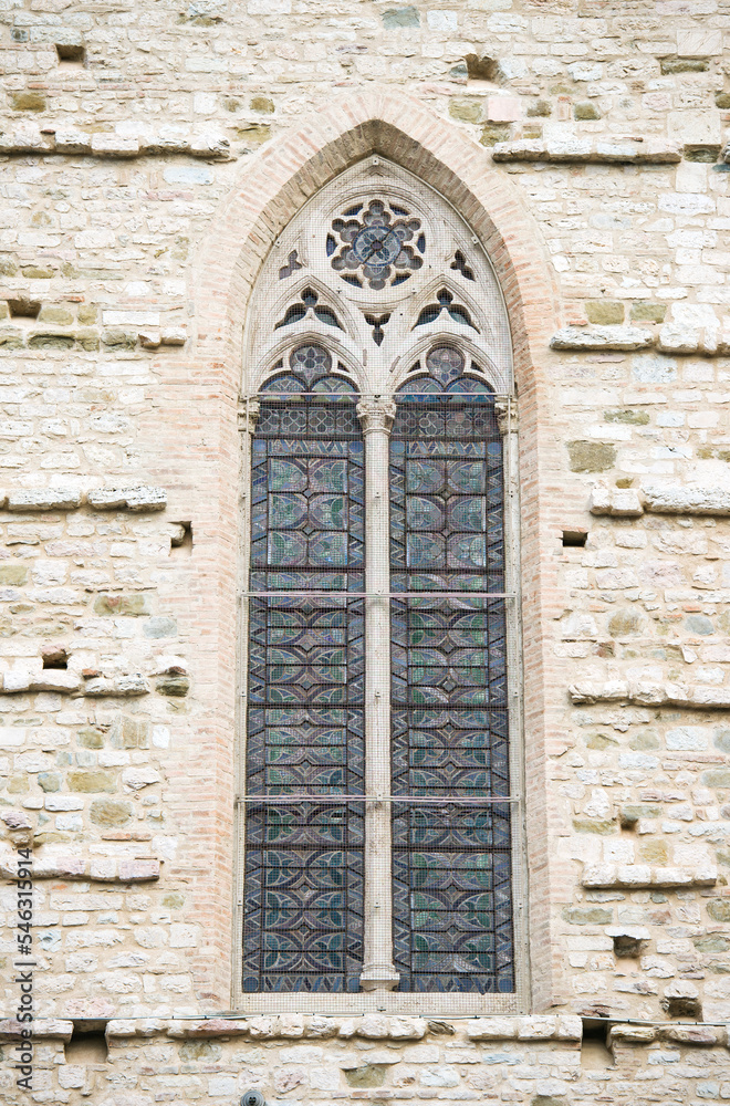
<instances>
[{"instance_id":1,"label":"round flower-shaped rose medallion at top of the window tracery","mask_svg":"<svg viewBox=\"0 0 730 1106\"><path fill-rule=\"evenodd\" d=\"M350 218L332 223L327 255L348 284L362 288L367 282L375 290L401 284L423 265L426 238L420 219L409 218L404 208L371 200L364 211L358 205L344 216Z\"/></svg>"}]
</instances>

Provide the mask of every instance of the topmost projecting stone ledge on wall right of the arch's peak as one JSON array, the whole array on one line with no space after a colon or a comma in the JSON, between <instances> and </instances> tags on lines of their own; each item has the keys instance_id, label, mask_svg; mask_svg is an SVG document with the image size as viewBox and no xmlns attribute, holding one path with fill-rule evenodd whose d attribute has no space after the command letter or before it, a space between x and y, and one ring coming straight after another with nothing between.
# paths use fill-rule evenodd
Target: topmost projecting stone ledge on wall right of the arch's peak
<instances>
[{"instance_id":1,"label":"topmost projecting stone ledge on wall right of the arch's peak","mask_svg":"<svg viewBox=\"0 0 730 1106\"><path fill-rule=\"evenodd\" d=\"M519 138L492 146L494 161L676 165L681 146L663 138Z\"/></svg>"}]
</instances>

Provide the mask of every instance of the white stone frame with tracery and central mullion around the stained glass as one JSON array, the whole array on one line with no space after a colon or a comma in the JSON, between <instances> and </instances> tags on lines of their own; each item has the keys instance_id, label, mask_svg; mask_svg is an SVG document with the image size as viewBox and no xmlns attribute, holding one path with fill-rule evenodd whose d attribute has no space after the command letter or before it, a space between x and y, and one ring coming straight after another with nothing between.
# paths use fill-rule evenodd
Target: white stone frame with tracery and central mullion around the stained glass
<instances>
[{"instance_id":1,"label":"white stone frame with tracery and central mullion around the stained glass","mask_svg":"<svg viewBox=\"0 0 730 1106\"><path fill-rule=\"evenodd\" d=\"M324 239L332 220L351 206L372 198L393 200L421 221L426 234L424 265L395 288L378 291L354 288L332 268ZM279 272L296 251L300 269L280 279ZM456 251L466 259L473 281L452 270ZM335 312L342 330L315 319L312 312L299 322L277 328L286 309L305 289L319 296L317 306ZM442 311L432 323L417 326L421 310L448 290L469 313L473 326L452 321ZM390 314L380 345L373 340L364 314ZM508 695L512 816L512 904L514 918L515 992L512 994L451 994L398 992L392 957L390 909L390 656L389 656L389 430L395 416L393 397L403 383L424 371L428 349L448 342L465 357L467 375L487 378L498 396L504 457L504 545L508 623ZM244 800L238 803L238 872L233 946L234 1010L250 1013L284 1011L347 1013L368 1011L469 1016L479 1013L515 1013L529 1009L526 873L521 719L521 647L519 585L519 483L517 404L513 395L512 345L509 320L494 271L476 236L450 205L407 170L382 158L369 157L341 174L292 219L274 243L249 304L244 328L244 366L240 428L243 444L241 528L242 585L240 603L240 710L238 794L244 796L246 680L248 675L248 580L250 442L255 430L257 395L272 375L286 369L288 354L314 342L332 354L333 372L340 366L355 382L365 440L366 465L366 843L363 990L347 993L243 993L241 990L242 927L244 910ZM420 368L419 368L420 366ZM375 596L383 595L383 599ZM369 860L368 860L369 857ZM375 857L378 863L373 863ZM384 857L387 863L384 863Z\"/></svg>"}]
</instances>

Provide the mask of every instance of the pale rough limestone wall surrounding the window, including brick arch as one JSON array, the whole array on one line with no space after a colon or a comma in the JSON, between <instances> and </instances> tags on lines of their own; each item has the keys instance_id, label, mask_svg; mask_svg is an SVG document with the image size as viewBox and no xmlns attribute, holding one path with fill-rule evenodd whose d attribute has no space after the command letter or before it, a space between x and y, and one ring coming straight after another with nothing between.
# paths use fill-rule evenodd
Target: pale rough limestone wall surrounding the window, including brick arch
<instances>
[{"instance_id":1,"label":"pale rough limestone wall surrounding the window, including brick arch","mask_svg":"<svg viewBox=\"0 0 730 1106\"><path fill-rule=\"evenodd\" d=\"M0 7L8 1102L19 848L33 1100L730 1097L729 46L721 0ZM530 991L500 1019L231 1011L241 333L373 154L457 207L513 324Z\"/></svg>"}]
</instances>

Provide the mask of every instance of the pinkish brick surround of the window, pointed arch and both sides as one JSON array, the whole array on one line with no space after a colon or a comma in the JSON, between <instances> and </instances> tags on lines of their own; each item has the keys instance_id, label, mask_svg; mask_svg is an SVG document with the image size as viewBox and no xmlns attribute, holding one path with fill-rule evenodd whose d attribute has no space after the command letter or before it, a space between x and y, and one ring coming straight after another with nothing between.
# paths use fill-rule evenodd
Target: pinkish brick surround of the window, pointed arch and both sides
<instances>
[{"instance_id":1,"label":"pinkish brick surround of the window, pointed arch and both sides","mask_svg":"<svg viewBox=\"0 0 730 1106\"><path fill-rule=\"evenodd\" d=\"M392 93L345 96L312 122L274 139L247 160L238 185L216 212L198 251L195 269L195 314L198 338L189 351L189 366L199 387L216 397L210 415L218 422L218 487L209 489L211 526L220 538L207 556L225 582L217 596L221 625L213 667L218 675L220 723L215 769L210 771L216 810L205 815L215 823L213 867L219 885L218 918L229 908L232 867L233 711L230 689L234 671L225 643L231 640L236 581L236 519L239 488L233 408L240 387L242 332L251 290L270 248L300 208L344 169L366 156L380 154L436 188L471 226L481 240L504 294L510 314L515 380L520 395L520 471L522 514L523 620L528 627L544 625L552 580L545 567L550 541L559 520L555 508L545 509L555 490L557 437L551 434L549 404L550 335L560 325L561 306L548 251L536 222L509 177L497 169L487 153L445 119L416 101ZM215 410L213 410L215 408ZM536 458L540 457L540 467ZM216 494L217 492L217 494ZM213 508L215 504L215 508ZM215 521L213 521L215 520ZM226 521L227 520L227 521ZM201 554L202 554L201 550ZM222 566L222 567L221 567ZM226 594L223 594L226 593ZM545 598L546 597L546 598ZM234 639L234 632L233 632ZM545 745L551 732L550 696L545 693L546 646L540 634L524 640L524 730L526 740L528 867L530 870L530 932L532 948L532 1009L548 1009L560 990L560 958L551 945L548 834L551 797L545 786ZM554 696L554 690L553 690ZM554 706L554 703L553 703ZM228 717L229 721L226 722ZM213 783L213 778L218 782ZM204 875L201 890L205 889ZM552 878L564 881L566 874ZM221 952L226 927L219 927ZM552 949L552 954L551 954ZM222 1001L226 991L222 961L201 972L208 993Z\"/></svg>"}]
</instances>

